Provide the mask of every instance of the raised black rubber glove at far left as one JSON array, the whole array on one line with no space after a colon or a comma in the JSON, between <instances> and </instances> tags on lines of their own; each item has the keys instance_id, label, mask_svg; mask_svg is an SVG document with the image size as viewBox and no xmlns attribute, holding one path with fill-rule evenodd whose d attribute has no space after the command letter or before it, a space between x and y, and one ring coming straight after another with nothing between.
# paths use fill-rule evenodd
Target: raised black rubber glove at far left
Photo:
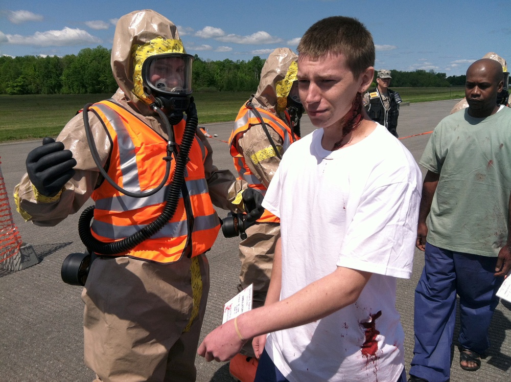
<instances>
[{"instance_id":1,"label":"raised black rubber glove at far left","mask_svg":"<svg viewBox=\"0 0 511 382\"><path fill-rule=\"evenodd\" d=\"M29 152L25 164L37 191L44 196L55 196L75 174L76 160L70 150L64 150L62 142L46 137L42 146Z\"/></svg>"}]
</instances>

